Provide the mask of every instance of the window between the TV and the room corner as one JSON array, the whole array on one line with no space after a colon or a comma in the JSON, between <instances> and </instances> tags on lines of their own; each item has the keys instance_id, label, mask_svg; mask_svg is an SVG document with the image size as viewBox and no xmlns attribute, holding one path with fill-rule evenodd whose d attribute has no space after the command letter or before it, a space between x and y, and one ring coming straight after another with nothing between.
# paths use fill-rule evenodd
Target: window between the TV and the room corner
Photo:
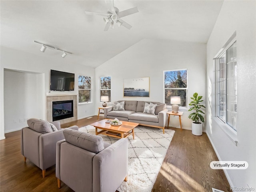
<instances>
[{"instance_id":1,"label":"window between the TV and the room corner","mask_svg":"<svg viewBox=\"0 0 256 192\"><path fill-rule=\"evenodd\" d=\"M78 104L91 102L91 77L78 75Z\"/></svg>"}]
</instances>

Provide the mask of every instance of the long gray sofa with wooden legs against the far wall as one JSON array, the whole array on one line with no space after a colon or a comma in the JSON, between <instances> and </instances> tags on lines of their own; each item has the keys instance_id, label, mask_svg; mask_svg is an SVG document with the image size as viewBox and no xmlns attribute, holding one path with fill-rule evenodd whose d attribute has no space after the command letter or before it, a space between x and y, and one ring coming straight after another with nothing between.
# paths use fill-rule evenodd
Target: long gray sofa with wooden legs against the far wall
<instances>
[{"instance_id":1,"label":"long gray sofa with wooden legs against the far wall","mask_svg":"<svg viewBox=\"0 0 256 192\"><path fill-rule=\"evenodd\" d=\"M124 101L124 110L113 110L113 106L104 108L104 118L118 118L121 121L135 122L142 126L150 126L163 129L167 124L166 105L160 102L151 102L157 104L154 114L144 113L145 101ZM150 104L150 102L147 102Z\"/></svg>"}]
</instances>

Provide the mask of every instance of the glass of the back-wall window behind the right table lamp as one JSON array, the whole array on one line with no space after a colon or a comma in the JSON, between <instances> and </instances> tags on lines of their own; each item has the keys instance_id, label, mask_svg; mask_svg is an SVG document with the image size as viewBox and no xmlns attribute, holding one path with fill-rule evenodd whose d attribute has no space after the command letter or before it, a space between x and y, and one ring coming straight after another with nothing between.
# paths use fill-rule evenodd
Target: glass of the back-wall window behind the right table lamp
<instances>
[{"instance_id":1,"label":"glass of the back-wall window behind the right table lamp","mask_svg":"<svg viewBox=\"0 0 256 192\"><path fill-rule=\"evenodd\" d=\"M180 106L186 108L187 71L186 69L164 71L164 98L167 106L171 105L171 96L180 96Z\"/></svg>"}]
</instances>

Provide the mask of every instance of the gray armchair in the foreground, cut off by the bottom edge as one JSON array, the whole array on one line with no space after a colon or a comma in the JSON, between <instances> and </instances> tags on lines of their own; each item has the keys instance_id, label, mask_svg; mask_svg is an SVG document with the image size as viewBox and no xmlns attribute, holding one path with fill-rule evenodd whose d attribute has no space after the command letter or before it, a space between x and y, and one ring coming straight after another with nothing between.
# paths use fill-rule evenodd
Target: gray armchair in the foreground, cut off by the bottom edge
<instances>
[{"instance_id":1,"label":"gray armchair in the foreground, cut off by the bottom edge","mask_svg":"<svg viewBox=\"0 0 256 192\"><path fill-rule=\"evenodd\" d=\"M115 192L128 173L128 140L114 144L100 136L64 130L57 142L56 177L76 192Z\"/></svg>"}]
</instances>

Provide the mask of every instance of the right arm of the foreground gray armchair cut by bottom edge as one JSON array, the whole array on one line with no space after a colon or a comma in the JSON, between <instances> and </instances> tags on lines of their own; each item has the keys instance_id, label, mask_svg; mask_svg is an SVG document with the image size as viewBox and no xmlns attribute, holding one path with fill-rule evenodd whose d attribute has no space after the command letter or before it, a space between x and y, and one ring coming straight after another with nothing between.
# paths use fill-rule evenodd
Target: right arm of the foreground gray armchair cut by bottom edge
<instances>
[{"instance_id":1,"label":"right arm of the foreground gray armchair cut by bottom edge","mask_svg":"<svg viewBox=\"0 0 256 192\"><path fill-rule=\"evenodd\" d=\"M105 148L92 164L93 191L116 191L128 173L128 140L121 138Z\"/></svg>"}]
</instances>

